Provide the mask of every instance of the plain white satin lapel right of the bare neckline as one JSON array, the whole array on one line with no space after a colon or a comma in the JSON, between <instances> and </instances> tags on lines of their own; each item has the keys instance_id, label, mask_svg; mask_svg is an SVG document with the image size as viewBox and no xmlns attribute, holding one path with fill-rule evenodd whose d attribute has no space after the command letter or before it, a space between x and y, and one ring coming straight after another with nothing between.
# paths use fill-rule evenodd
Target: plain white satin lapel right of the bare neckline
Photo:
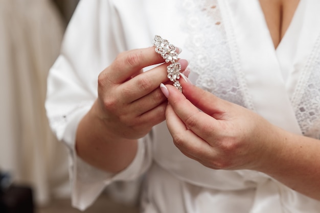
<instances>
[{"instance_id":1,"label":"plain white satin lapel right of the bare neckline","mask_svg":"<svg viewBox=\"0 0 320 213\"><path fill-rule=\"evenodd\" d=\"M310 54L317 48L317 39L320 35L319 8L318 0L301 0L292 23L277 49L281 69L287 73L286 90L293 105L296 104L295 100L301 99L295 94L297 85L299 82L305 83L301 79L308 79L311 73L307 72L308 60L312 58Z\"/></svg>"}]
</instances>

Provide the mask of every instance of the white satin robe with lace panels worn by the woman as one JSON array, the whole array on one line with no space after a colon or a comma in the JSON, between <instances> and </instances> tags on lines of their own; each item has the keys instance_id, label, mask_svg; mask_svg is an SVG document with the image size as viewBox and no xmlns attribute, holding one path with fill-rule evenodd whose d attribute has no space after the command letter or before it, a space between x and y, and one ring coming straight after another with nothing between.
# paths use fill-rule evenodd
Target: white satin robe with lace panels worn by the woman
<instances>
[{"instance_id":1,"label":"white satin robe with lace panels worn by the woman","mask_svg":"<svg viewBox=\"0 0 320 213\"><path fill-rule=\"evenodd\" d=\"M320 202L255 171L215 171L181 154L165 122L139 140L119 174L75 153L75 132L97 98L97 76L118 53L161 35L182 48L190 79L287 131L319 137L320 2L301 0L275 50L258 0L82 0L50 70L47 112L70 150L73 205L85 209L103 187L146 172L143 212L320 212Z\"/></svg>"}]
</instances>

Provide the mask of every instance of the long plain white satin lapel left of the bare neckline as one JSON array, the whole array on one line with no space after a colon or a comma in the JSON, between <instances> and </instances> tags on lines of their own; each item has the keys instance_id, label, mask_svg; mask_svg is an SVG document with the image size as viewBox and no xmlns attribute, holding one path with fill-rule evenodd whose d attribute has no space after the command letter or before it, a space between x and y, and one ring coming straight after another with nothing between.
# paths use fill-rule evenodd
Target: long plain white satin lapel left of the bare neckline
<instances>
[{"instance_id":1,"label":"long plain white satin lapel left of the bare neckline","mask_svg":"<svg viewBox=\"0 0 320 213\"><path fill-rule=\"evenodd\" d=\"M270 123L301 134L260 4L257 0L242 3L220 1L223 19L230 19L225 23L227 36L235 41L232 52L239 66L235 68L242 73L253 109Z\"/></svg>"}]
</instances>

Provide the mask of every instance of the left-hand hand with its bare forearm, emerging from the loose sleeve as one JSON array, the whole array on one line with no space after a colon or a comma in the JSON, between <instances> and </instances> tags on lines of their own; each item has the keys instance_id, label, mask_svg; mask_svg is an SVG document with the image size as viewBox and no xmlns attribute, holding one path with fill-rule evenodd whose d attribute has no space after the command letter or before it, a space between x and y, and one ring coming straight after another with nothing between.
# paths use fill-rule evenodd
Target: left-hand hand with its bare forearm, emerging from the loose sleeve
<instances>
[{"instance_id":1,"label":"left-hand hand with its bare forearm, emerging from the loose sleeve","mask_svg":"<svg viewBox=\"0 0 320 213\"><path fill-rule=\"evenodd\" d=\"M165 120L167 99L159 85L168 83L167 66L154 48L121 53L98 78L98 99L78 125L76 151L102 170L118 173L134 159L138 138ZM180 60L181 69L187 67Z\"/></svg>"}]
</instances>

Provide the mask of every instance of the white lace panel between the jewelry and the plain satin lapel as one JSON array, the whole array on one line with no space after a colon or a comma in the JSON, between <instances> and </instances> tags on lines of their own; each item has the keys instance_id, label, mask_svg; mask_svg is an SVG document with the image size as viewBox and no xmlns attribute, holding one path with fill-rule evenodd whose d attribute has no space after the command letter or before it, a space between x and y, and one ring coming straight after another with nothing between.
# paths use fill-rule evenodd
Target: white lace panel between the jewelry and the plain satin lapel
<instances>
[{"instance_id":1,"label":"white lace panel between the jewelry and the plain satin lapel","mask_svg":"<svg viewBox=\"0 0 320 213\"><path fill-rule=\"evenodd\" d=\"M198 74L196 85L224 100L249 107L235 72L219 6L216 0L185 0L182 23L188 33L185 48L194 53L189 63Z\"/></svg>"}]
</instances>

